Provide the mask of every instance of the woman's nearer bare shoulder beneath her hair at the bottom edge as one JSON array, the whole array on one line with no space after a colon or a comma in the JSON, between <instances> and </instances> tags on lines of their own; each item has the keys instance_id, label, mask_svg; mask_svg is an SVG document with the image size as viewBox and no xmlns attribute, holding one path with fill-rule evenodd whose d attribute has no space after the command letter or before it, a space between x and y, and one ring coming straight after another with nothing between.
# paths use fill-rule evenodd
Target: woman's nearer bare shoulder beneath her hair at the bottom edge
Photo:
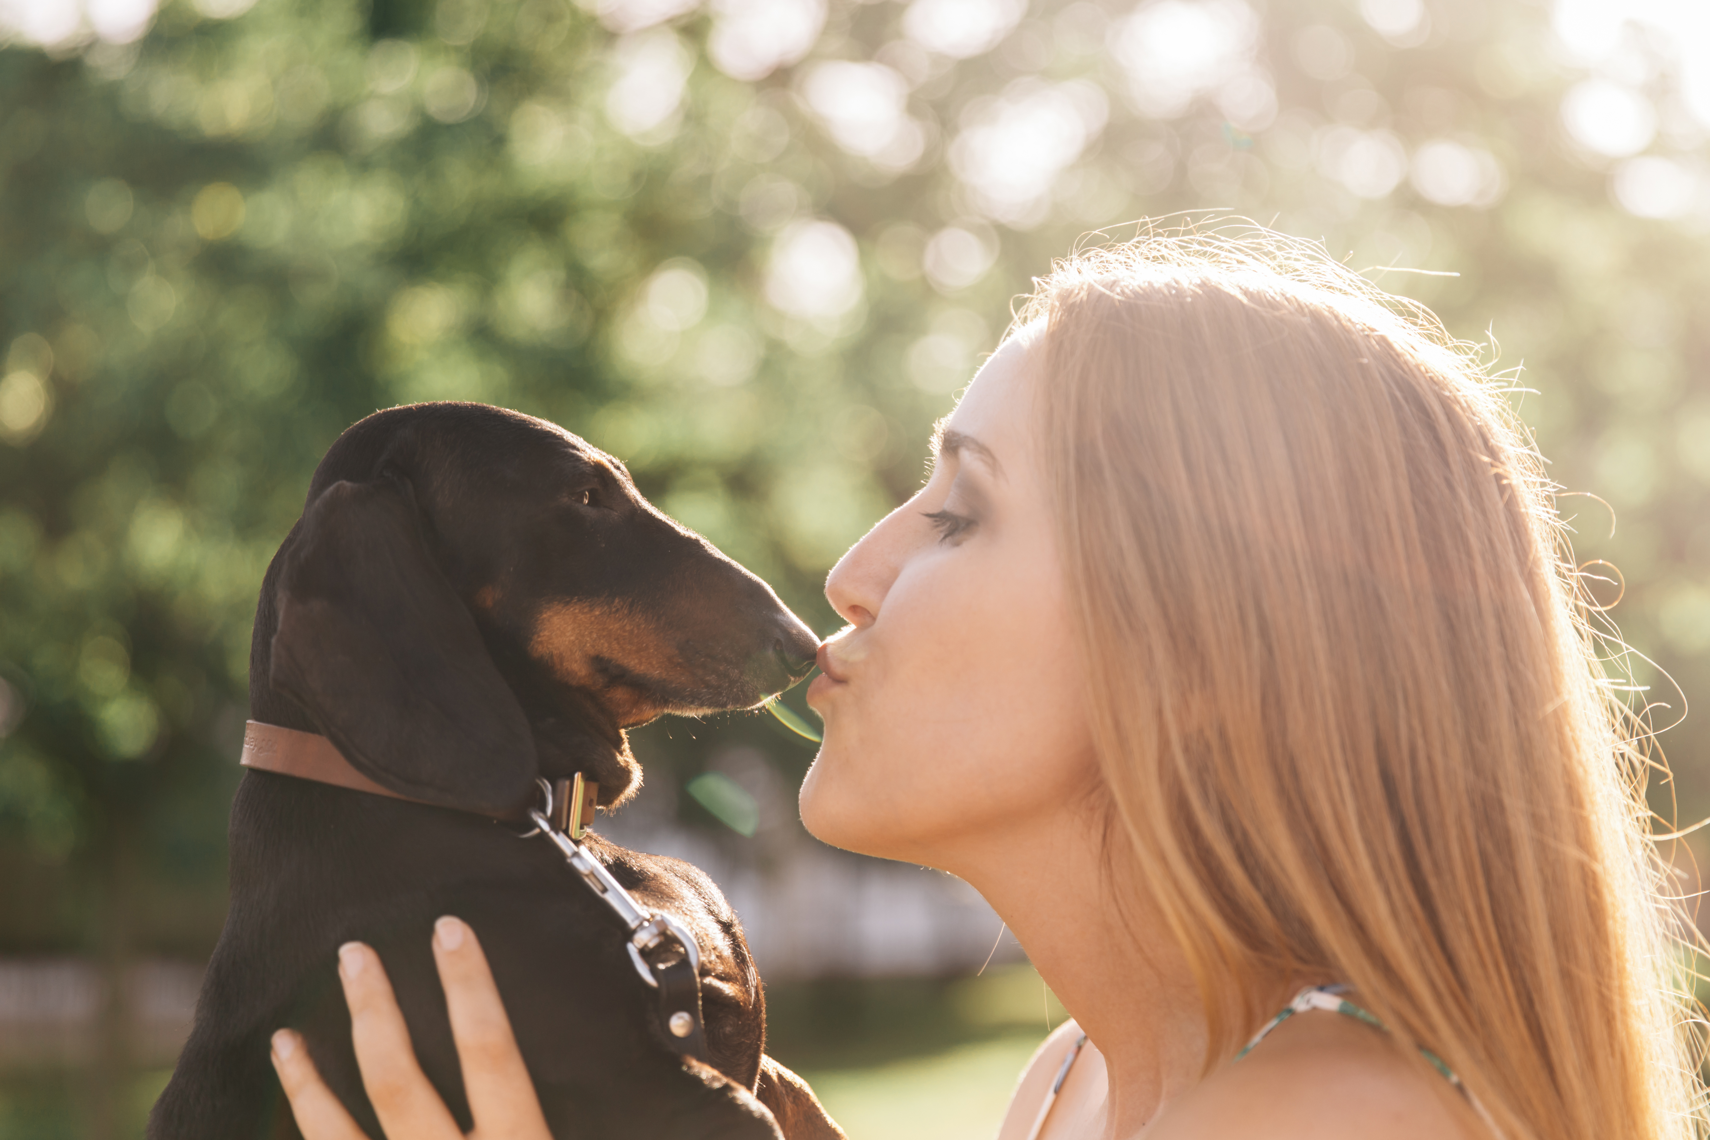
<instances>
[{"instance_id":1,"label":"woman's nearer bare shoulder beneath her hair at the bottom edge","mask_svg":"<svg viewBox=\"0 0 1710 1140\"><path fill-rule=\"evenodd\" d=\"M1483 1130L1455 1085L1411 1065L1382 1031L1308 1014L1173 1101L1146 1137L1483 1140Z\"/></svg>"}]
</instances>

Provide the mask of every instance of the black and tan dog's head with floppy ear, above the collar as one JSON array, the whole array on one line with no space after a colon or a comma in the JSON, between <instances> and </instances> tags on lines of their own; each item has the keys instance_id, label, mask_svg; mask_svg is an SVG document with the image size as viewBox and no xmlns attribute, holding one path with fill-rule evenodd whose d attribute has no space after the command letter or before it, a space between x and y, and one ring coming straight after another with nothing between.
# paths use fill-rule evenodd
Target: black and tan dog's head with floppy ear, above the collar
<instances>
[{"instance_id":1,"label":"black and tan dog's head with floppy ear, above the collar","mask_svg":"<svg viewBox=\"0 0 1710 1140\"><path fill-rule=\"evenodd\" d=\"M263 644L265 641L265 644ZM624 730L749 708L812 667L761 579L658 513L624 465L481 403L345 431L262 588L256 687L378 783L504 815L535 776L638 786Z\"/></svg>"}]
</instances>

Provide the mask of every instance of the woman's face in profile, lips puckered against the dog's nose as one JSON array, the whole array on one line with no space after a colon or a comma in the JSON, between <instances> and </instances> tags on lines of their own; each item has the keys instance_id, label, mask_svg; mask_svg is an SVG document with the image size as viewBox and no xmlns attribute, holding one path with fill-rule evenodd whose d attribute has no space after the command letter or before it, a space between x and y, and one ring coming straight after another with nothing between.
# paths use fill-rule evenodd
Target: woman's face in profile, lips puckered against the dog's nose
<instances>
[{"instance_id":1,"label":"woman's face in profile, lips puckered against the dog's nose","mask_svg":"<svg viewBox=\"0 0 1710 1140\"><path fill-rule=\"evenodd\" d=\"M1019 834L1094 779L1031 340L987 361L927 485L826 581L850 622L807 696L826 738L802 820L826 843L954 872L970 844Z\"/></svg>"}]
</instances>

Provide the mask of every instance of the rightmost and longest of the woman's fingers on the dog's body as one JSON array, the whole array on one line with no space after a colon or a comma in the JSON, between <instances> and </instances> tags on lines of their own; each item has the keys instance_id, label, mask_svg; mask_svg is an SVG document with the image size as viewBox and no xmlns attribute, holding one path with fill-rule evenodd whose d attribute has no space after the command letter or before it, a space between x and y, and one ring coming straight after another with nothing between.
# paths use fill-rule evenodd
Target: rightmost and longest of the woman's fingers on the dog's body
<instances>
[{"instance_id":1,"label":"rightmost and longest of the woman's fingers on the dog's body","mask_svg":"<svg viewBox=\"0 0 1710 1140\"><path fill-rule=\"evenodd\" d=\"M549 1140L540 1097L535 1096L516 1034L492 983L487 955L475 931L446 914L434 923L433 955L451 1015L451 1037L463 1065L463 1090L475 1133L504 1140Z\"/></svg>"}]
</instances>

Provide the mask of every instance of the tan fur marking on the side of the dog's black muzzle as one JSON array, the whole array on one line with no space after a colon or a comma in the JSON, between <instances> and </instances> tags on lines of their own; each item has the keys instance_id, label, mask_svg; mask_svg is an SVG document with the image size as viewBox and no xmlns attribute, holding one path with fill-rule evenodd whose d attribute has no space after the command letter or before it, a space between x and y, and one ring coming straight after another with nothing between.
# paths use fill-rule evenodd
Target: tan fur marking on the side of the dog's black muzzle
<instances>
[{"instance_id":1,"label":"tan fur marking on the side of the dog's black muzzle","mask_svg":"<svg viewBox=\"0 0 1710 1140\"><path fill-rule=\"evenodd\" d=\"M593 658L665 684L681 684L684 672L663 631L633 608L610 602L552 602L540 608L528 653L566 685L587 689L619 725L652 720L663 709L646 694L600 675Z\"/></svg>"}]
</instances>

